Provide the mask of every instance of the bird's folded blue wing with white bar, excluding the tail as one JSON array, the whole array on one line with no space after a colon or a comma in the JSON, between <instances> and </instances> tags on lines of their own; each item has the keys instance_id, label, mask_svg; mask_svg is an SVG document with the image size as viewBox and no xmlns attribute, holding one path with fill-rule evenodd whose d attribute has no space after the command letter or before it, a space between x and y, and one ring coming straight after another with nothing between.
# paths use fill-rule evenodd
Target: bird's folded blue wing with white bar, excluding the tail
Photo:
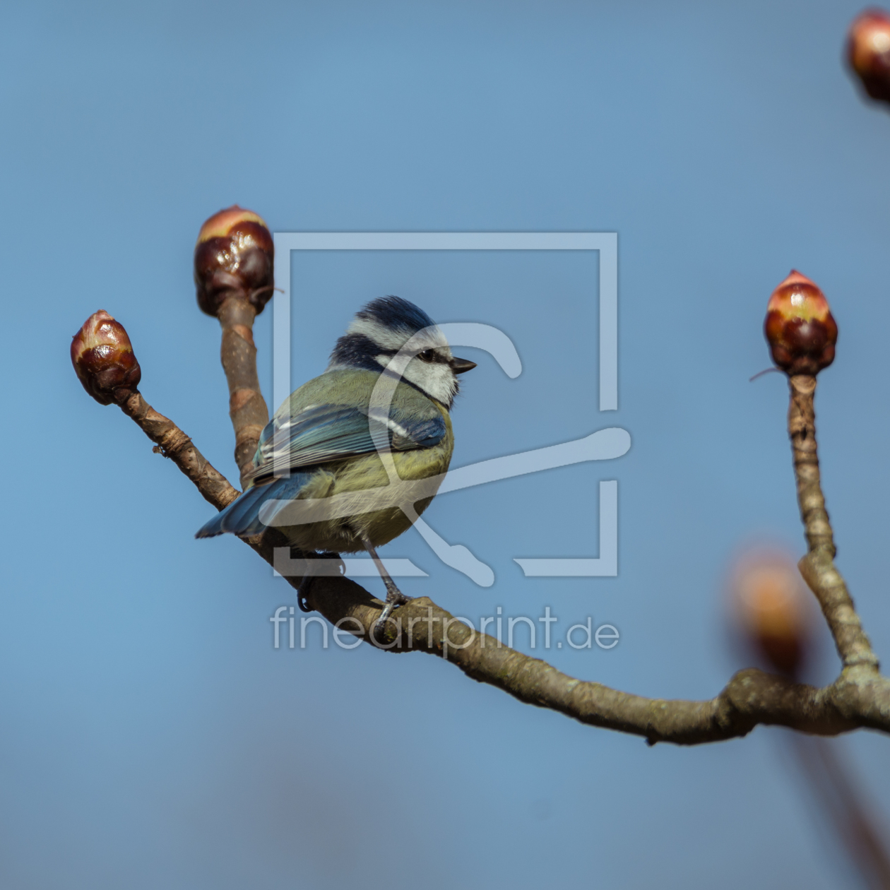
<instances>
[{"instance_id":1,"label":"bird's folded blue wing with white bar, excluding the tail","mask_svg":"<svg viewBox=\"0 0 890 890\"><path fill-rule=\"evenodd\" d=\"M438 411L435 417L417 418L390 409L388 417L378 418L368 417L367 409L312 405L284 423L278 416L271 419L260 436L251 476L262 479L276 465L294 470L368 454L376 451L376 431L385 433L394 451L433 448L446 434Z\"/></svg>"}]
</instances>

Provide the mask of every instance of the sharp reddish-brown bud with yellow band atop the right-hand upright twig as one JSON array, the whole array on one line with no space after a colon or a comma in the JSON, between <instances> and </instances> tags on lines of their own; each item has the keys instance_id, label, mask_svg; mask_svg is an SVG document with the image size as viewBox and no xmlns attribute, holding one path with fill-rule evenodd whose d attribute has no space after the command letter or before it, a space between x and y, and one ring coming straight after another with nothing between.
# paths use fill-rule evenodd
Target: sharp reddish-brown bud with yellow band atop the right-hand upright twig
<instances>
[{"instance_id":1,"label":"sharp reddish-brown bud with yellow band atop the right-hand upright twig","mask_svg":"<svg viewBox=\"0 0 890 890\"><path fill-rule=\"evenodd\" d=\"M791 270L766 306L766 342L786 374L818 374L834 361L837 323L819 287Z\"/></svg>"}]
</instances>

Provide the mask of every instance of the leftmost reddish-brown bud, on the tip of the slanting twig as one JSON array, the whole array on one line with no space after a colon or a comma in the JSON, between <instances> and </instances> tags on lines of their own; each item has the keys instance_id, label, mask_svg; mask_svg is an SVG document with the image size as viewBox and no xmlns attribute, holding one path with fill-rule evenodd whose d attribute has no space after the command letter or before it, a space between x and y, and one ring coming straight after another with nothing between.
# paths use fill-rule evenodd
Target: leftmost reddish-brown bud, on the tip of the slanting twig
<instances>
[{"instance_id":1,"label":"leftmost reddish-brown bud, on the tip of the slanting twig","mask_svg":"<svg viewBox=\"0 0 890 890\"><path fill-rule=\"evenodd\" d=\"M71 364L86 392L100 405L126 401L142 378L124 326L104 309L93 312L74 335Z\"/></svg>"}]
</instances>

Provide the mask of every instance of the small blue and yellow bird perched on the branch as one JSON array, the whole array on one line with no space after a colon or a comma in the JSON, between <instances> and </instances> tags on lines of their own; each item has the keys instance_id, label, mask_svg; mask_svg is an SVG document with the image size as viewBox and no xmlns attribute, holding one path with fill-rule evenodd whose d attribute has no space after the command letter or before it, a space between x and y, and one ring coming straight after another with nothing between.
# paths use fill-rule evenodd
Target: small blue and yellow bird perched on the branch
<instances>
[{"instance_id":1,"label":"small blue and yellow bird perched on the branch","mask_svg":"<svg viewBox=\"0 0 890 890\"><path fill-rule=\"evenodd\" d=\"M366 551L386 587L380 627L410 597L376 548L433 500L454 450L457 376L475 367L452 355L441 328L414 303L392 295L371 301L336 341L324 372L292 392L263 429L243 494L195 537L248 538L274 524L304 553ZM425 497L405 508L397 495L387 499L392 467L397 483L429 480L419 490ZM328 498L345 508L326 511ZM305 512L288 524L294 506Z\"/></svg>"}]
</instances>

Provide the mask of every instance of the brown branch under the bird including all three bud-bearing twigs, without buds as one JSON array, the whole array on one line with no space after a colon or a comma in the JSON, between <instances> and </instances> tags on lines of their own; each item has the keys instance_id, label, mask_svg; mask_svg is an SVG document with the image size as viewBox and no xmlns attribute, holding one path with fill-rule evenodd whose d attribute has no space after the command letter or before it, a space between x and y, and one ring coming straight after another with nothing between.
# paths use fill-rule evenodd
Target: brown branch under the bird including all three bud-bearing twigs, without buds
<instances>
[{"instance_id":1,"label":"brown branch under the bird including all three bud-bearing twigs, without buds","mask_svg":"<svg viewBox=\"0 0 890 890\"><path fill-rule=\"evenodd\" d=\"M256 350L248 342L252 340L249 325L253 313L247 312L244 303L227 300L221 312L223 368L232 394L232 423L238 437L242 472L249 465L249 442L255 442L254 435L259 435L256 430L261 429L255 421L268 416L256 383ZM801 514L810 542L810 552L801 561L801 570L822 604L845 662L841 676L824 689L749 668L733 676L711 700L648 699L563 674L546 661L477 633L427 597L402 605L387 622L381 638L374 634L384 603L352 580L320 576L303 590L303 578L287 581L337 628L377 648L438 655L474 680L496 686L518 700L559 711L584 724L639 735L650 744L668 741L694 745L731 739L746 735L757 724L787 726L816 735L835 735L859 727L890 732L890 681L878 674L877 659L832 562L834 544L819 485L815 447L815 380L807 376L790 379L789 434ZM239 399L238 393L245 391L248 394ZM139 392L127 397L121 408L157 443L156 450L170 457L217 509L239 496L189 437L173 421L151 409ZM279 547L284 547L288 556L304 555L287 548L287 542L275 529L246 539L246 543L270 565L275 564Z\"/></svg>"}]
</instances>

